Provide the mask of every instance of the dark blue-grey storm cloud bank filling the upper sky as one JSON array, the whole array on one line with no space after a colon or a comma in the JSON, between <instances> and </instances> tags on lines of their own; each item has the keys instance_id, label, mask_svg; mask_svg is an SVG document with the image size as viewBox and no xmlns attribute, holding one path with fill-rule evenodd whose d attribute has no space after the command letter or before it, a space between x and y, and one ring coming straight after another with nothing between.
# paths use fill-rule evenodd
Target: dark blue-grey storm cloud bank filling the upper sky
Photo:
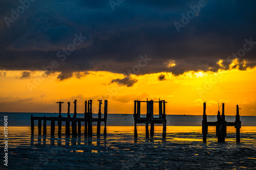
<instances>
[{"instance_id":1,"label":"dark blue-grey storm cloud bank filling the upper sky","mask_svg":"<svg viewBox=\"0 0 256 170\"><path fill-rule=\"evenodd\" d=\"M112 10L109 1L35 1L10 23L19 2L0 2L0 69L43 70L56 60L59 80L77 71L123 73L137 64L140 55L152 58L138 74L189 70L213 70L232 53L243 48L245 39L256 41L254 1L205 1L198 16L180 28L174 22L199 1L124 1ZM61 60L58 52L74 43L75 34L87 37ZM256 44L239 60L256 64ZM175 61L168 68L166 62ZM241 65L241 69L246 67ZM48 67L49 68L49 67ZM78 76L79 77L79 76Z\"/></svg>"}]
</instances>

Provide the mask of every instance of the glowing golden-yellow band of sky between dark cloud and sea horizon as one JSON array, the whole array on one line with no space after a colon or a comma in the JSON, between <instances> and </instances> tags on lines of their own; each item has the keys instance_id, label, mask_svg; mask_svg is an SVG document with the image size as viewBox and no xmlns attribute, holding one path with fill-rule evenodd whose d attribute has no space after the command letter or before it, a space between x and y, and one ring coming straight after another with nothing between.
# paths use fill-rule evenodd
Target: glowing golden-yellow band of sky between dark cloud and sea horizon
<instances>
[{"instance_id":1,"label":"glowing golden-yellow band of sky between dark cloud and sea horizon","mask_svg":"<svg viewBox=\"0 0 256 170\"><path fill-rule=\"evenodd\" d=\"M221 63L220 63L221 64ZM134 100L167 101L167 114L202 115L206 102L208 115L218 111L218 103L225 103L225 114L235 115L236 105L240 115L255 115L256 112L256 67L247 70L237 68L215 72L185 72L180 76L160 72L135 76L138 80L132 87L118 86L112 79L124 78L121 74L105 71L90 71L80 79L75 76L59 81L59 72L41 77L44 72L33 71L31 77L21 79L22 72L1 70L0 112L58 112L58 104L77 99L77 112L84 112L84 101L93 100L93 112L97 112L97 100L109 101L109 113L133 113ZM5 72L5 76L4 75ZM159 81L158 76L165 75ZM143 107L143 105L142 105ZM145 106L144 106L145 108ZM157 104L155 105L157 113ZM145 109L142 110L145 113Z\"/></svg>"}]
</instances>

